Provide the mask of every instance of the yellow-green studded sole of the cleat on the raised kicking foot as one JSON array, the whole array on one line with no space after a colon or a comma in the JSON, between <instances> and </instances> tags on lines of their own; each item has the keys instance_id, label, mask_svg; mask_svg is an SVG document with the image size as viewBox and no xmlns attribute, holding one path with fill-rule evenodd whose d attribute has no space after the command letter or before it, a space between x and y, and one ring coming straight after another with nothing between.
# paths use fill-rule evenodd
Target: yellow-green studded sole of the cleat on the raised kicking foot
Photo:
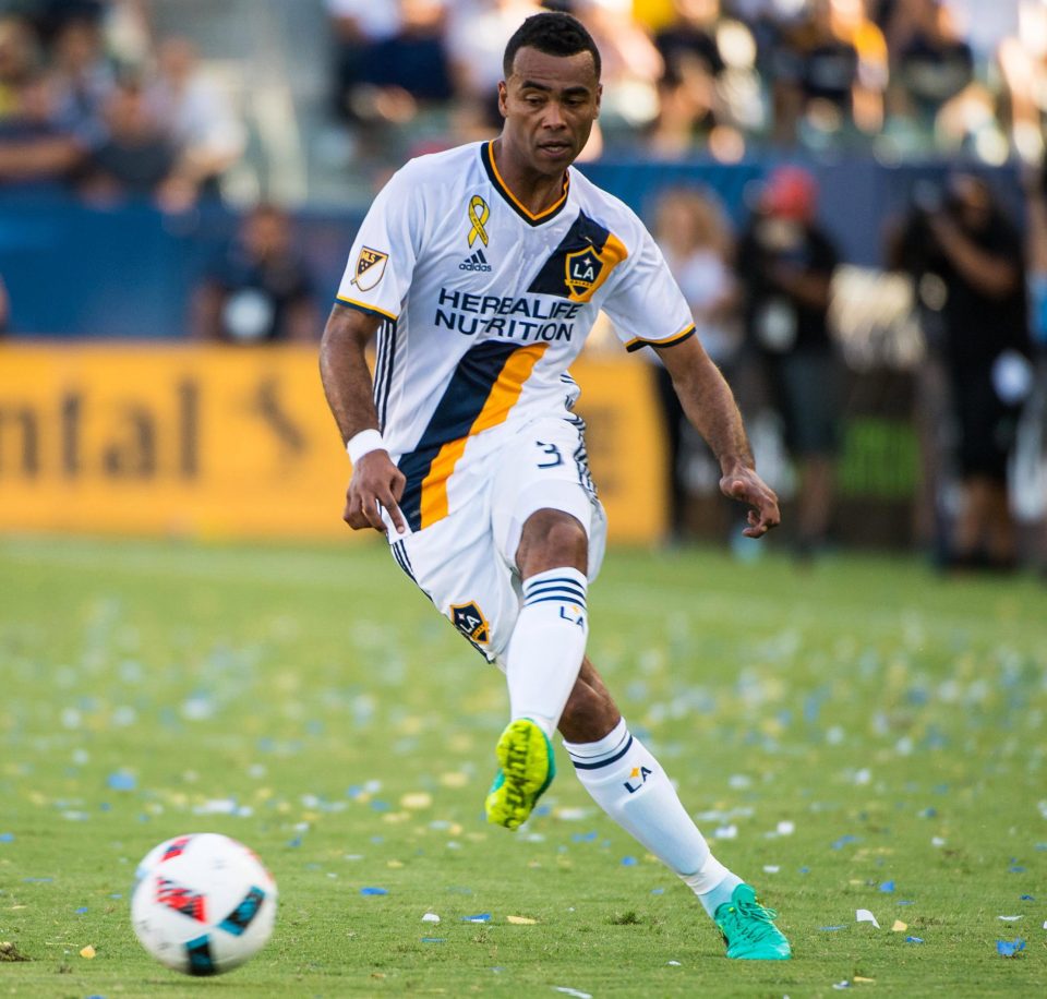
<instances>
[{"instance_id":1,"label":"yellow-green studded sole of the cleat on the raised kicking foot","mask_svg":"<svg viewBox=\"0 0 1047 999\"><path fill-rule=\"evenodd\" d=\"M553 744L534 722L521 718L502 733L495 753L501 767L484 803L488 821L516 829L556 775Z\"/></svg>"}]
</instances>

